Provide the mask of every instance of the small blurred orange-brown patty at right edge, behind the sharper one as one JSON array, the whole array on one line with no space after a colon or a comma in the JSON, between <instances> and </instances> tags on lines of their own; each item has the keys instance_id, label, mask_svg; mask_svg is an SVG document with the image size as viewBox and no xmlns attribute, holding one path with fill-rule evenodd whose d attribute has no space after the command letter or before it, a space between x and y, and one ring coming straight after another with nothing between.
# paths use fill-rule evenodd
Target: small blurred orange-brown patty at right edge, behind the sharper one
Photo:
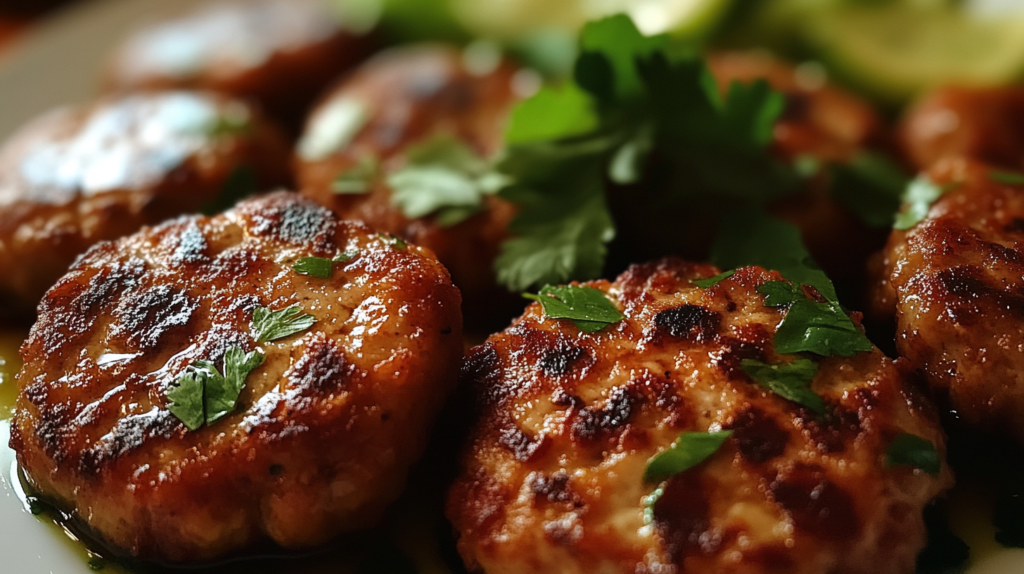
<instances>
[{"instance_id":1,"label":"small blurred orange-brown patty at right edge, behind the sharper one","mask_svg":"<svg viewBox=\"0 0 1024 574\"><path fill-rule=\"evenodd\" d=\"M956 157L1024 169L1024 87L937 89L906 112L899 142L922 170Z\"/></svg>"}]
</instances>

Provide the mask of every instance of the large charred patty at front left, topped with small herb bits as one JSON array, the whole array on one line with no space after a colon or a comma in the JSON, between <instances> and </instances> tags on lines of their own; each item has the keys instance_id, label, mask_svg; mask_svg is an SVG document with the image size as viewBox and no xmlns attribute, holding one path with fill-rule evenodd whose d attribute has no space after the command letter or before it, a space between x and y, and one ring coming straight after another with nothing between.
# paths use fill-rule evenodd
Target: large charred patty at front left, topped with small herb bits
<instances>
[{"instance_id":1,"label":"large charred patty at front left, topped with small herb bits","mask_svg":"<svg viewBox=\"0 0 1024 574\"><path fill-rule=\"evenodd\" d=\"M330 279L298 275L333 257ZM258 306L313 327L257 345ZM372 526L399 492L462 355L460 296L397 249L293 193L88 252L22 348L11 446L33 485L136 557L202 562ZM237 411L197 432L165 392L196 360L262 349Z\"/></svg>"}]
</instances>

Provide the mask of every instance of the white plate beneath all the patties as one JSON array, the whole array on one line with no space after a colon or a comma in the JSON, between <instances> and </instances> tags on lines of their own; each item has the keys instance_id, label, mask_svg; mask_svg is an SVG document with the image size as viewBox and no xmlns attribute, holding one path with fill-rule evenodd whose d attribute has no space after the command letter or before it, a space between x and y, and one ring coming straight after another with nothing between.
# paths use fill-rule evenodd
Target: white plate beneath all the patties
<instances>
[{"instance_id":1,"label":"white plate beneath all the patties","mask_svg":"<svg viewBox=\"0 0 1024 574\"><path fill-rule=\"evenodd\" d=\"M139 20L200 1L93 0L37 26L12 49L0 52L0 139L50 107L95 95L105 54ZM81 546L26 509L7 439L8 426L0 423L0 571L92 574ZM980 490L961 489L954 496L954 529L975 555L969 573L1024 573L1024 549L1005 549L994 542L991 501Z\"/></svg>"}]
</instances>

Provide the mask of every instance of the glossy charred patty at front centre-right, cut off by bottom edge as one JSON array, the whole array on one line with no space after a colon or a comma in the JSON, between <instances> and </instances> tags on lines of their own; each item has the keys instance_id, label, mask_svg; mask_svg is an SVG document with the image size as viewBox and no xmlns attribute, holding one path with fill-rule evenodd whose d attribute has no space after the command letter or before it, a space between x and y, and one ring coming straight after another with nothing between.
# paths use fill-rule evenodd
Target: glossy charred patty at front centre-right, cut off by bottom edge
<instances>
[{"instance_id":1,"label":"glossy charred patty at front centre-right, cut off by bottom edge","mask_svg":"<svg viewBox=\"0 0 1024 574\"><path fill-rule=\"evenodd\" d=\"M540 305L473 349L462 384L479 420L447 514L487 574L909 574L924 505L951 483L887 469L894 437L944 452L933 406L878 350L827 358L817 417L755 385L743 358L777 360L782 312L750 267L636 265L607 293L626 319L597 334ZM706 463L670 479L645 526L647 459L685 431L731 429Z\"/></svg>"}]
</instances>

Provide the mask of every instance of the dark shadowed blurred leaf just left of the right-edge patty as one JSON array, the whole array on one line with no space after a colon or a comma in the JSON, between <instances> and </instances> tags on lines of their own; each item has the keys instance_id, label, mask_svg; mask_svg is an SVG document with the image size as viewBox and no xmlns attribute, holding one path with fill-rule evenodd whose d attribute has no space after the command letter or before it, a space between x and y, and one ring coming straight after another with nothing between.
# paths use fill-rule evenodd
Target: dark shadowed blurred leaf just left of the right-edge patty
<instances>
[{"instance_id":1,"label":"dark shadowed blurred leaf just left of the right-edge patty","mask_svg":"<svg viewBox=\"0 0 1024 574\"><path fill-rule=\"evenodd\" d=\"M829 169L830 191L871 227L892 225L909 176L878 153L862 152Z\"/></svg>"}]
</instances>

